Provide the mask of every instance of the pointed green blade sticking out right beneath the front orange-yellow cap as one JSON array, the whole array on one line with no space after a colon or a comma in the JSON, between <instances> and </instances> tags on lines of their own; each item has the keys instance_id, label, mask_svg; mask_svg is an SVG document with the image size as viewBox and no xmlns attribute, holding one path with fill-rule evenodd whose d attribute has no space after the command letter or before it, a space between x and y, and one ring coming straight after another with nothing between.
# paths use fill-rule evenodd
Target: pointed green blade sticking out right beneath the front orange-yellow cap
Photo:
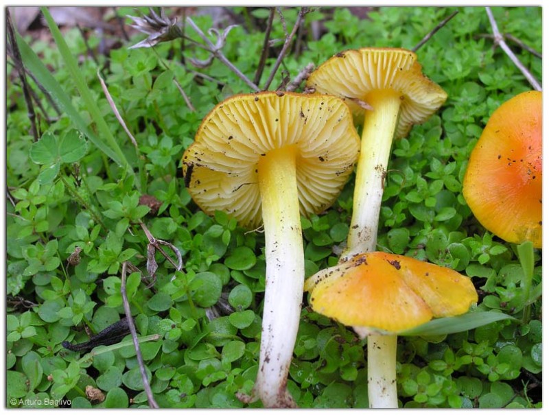
<instances>
[{"instance_id":1,"label":"pointed green blade sticking out right beneath the front orange-yellow cap","mask_svg":"<svg viewBox=\"0 0 549 415\"><path fill-rule=\"evenodd\" d=\"M496 311L475 311L458 317L436 318L414 329L399 332L398 335L431 336L459 333L460 331L476 329L476 327L508 318L516 320L511 316Z\"/></svg>"}]
</instances>

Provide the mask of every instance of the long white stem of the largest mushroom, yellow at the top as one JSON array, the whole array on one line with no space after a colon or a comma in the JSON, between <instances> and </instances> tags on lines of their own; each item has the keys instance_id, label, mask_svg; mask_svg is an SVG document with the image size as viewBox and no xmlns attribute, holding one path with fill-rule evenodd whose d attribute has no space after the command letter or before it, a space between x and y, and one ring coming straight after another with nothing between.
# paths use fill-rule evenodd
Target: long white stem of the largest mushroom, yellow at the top
<instances>
[{"instance_id":1,"label":"long white stem of the largest mushroom, yellow at the top","mask_svg":"<svg viewBox=\"0 0 549 415\"><path fill-rule=\"evenodd\" d=\"M272 150L258 167L266 281L254 394L266 407L296 407L286 389L299 327L305 264L294 147Z\"/></svg>"}]
</instances>

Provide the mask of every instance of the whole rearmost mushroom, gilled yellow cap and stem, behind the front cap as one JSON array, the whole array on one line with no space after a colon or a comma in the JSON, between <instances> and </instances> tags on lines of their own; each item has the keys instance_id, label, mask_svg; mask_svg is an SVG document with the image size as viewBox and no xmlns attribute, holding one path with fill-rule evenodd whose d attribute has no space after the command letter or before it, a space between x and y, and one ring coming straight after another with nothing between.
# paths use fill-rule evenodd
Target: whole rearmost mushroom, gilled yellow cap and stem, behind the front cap
<instances>
[{"instance_id":1,"label":"whole rearmost mushroom, gilled yellow cap and stem, behind the front cap","mask_svg":"<svg viewBox=\"0 0 549 415\"><path fill-rule=\"evenodd\" d=\"M363 48L336 54L307 80L316 93L343 97L364 119L353 217L342 260L375 250L377 223L393 137L405 137L446 100L443 89L425 78L412 51ZM372 108L367 110L366 108Z\"/></svg>"}]
</instances>

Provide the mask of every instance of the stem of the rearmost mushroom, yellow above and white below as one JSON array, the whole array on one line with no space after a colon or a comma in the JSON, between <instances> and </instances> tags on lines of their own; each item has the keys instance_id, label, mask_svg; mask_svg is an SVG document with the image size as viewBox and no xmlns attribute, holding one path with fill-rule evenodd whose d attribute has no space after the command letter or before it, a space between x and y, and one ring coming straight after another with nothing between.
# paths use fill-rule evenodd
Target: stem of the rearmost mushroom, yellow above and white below
<instances>
[{"instance_id":1,"label":"stem of the rearmost mushroom, yellow above and white below","mask_svg":"<svg viewBox=\"0 0 549 415\"><path fill-rule=\"evenodd\" d=\"M384 180L399 117L401 99L395 91L373 91L366 101L373 107L373 111L366 111L364 117L353 195L353 217L347 250L340 262L349 260L355 254L375 251Z\"/></svg>"}]
</instances>

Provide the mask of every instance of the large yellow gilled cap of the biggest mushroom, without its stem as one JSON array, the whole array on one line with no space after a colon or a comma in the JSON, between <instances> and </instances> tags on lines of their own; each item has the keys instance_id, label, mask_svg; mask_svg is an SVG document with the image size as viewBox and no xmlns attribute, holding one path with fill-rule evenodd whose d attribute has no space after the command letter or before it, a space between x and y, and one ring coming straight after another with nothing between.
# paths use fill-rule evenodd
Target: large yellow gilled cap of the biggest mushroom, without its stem
<instances>
[{"instance_id":1,"label":"large yellow gilled cap of the biggest mushroom, without its stem","mask_svg":"<svg viewBox=\"0 0 549 415\"><path fill-rule=\"evenodd\" d=\"M264 92L215 106L183 155L192 198L206 213L230 213L243 226L261 223L257 165L271 150L296 152L303 215L337 198L360 152L351 112L337 97Z\"/></svg>"}]
</instances>

